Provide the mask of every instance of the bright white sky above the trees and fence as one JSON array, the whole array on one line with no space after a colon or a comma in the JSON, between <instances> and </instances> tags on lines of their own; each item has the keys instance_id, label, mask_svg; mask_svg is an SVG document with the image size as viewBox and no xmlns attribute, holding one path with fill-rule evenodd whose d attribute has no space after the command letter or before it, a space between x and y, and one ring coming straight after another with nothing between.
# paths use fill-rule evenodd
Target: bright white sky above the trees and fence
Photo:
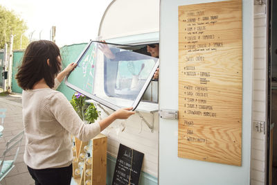
<instances>
[{"instance_id":1,"label":"bright white sky above the trees and fence","mask_svg":"<svg viewBox=\"0 0 277 185\"><path fill-rule=\"evenodd\" d=\"M112 0L0 0L0 5L24 19L28 39L50 39L64 46L96 39L102 15Z\"/></svg>"}]
</instances>

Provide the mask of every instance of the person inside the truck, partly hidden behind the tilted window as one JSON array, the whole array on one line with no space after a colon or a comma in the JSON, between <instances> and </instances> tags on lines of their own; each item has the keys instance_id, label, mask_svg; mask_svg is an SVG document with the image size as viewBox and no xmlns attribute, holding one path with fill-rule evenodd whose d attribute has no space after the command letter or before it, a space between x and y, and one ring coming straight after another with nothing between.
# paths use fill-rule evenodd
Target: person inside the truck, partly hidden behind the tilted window
<instances>
[{"instance_id":1,"label":"person inside the truck, partly hidden behind the tilted window","mask_svg":"<svg viewBox=\"0 0 277 185\"><path fill-rule=\"evenodd\" d=\"M105 42L105 41L101 41L101 42ZM112 53L107 44L100 44L99 48L104 53L104 55L110 60L118 60L118 58L120 58L120 60L133 60L133 58L128 58L127 55L124 55L123 52L120 52L119 54ZM159 58L159 44L148 44L142 49L133 50L133 51L144 55L150 55L153 58ZM156 72L154 73L153 79L155 80L159 79L159 68L157 68Z\"/></svg>"}]
</instances>

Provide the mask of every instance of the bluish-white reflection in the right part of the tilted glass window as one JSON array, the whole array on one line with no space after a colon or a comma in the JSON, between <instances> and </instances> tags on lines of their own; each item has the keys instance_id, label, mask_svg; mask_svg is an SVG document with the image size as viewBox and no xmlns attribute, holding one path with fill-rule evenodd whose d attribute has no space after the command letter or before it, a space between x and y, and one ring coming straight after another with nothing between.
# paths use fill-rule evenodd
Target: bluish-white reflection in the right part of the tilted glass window
<instances>
[{"instance_id":1,"label":"bluish-white reflection in the right part of the tilted glass window","mask_svg":"<svg viewBox=\"0 0 277 185\"><path fill-rule=\"evenodd\" d=\"M105 78L106 94L135 100L150 76L157 58L114 46L109 46L109 49L114 57L109 58L103 52L105 69L108 73L106 75L114 76L115 80Z\"/></svg>"}]
</instances>

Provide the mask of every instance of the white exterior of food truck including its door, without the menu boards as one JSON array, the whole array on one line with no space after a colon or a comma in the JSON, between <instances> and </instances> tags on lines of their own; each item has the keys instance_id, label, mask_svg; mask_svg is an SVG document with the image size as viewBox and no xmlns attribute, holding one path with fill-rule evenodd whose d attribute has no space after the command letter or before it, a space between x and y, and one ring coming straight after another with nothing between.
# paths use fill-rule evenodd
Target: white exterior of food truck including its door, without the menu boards
<instances>
[{"instance_id":1,"label":"white exterior of food truck including its door, without the menu boards","mask_svg":"<svg viewBox=\"0 0 277 185\"><path fill-rule=\"evenodd\" d=\"M145 154L141 184L269 184L269 0L242 0L241 166L178 157L178 120L159 116L161 110L178 110L178 7L218 1L114 0L107 7L98 39L159 43L160 60L159 103L139 106L139 114L102 132L108 137L107 184L120 143Z\"/></svg>"}]
</instances>

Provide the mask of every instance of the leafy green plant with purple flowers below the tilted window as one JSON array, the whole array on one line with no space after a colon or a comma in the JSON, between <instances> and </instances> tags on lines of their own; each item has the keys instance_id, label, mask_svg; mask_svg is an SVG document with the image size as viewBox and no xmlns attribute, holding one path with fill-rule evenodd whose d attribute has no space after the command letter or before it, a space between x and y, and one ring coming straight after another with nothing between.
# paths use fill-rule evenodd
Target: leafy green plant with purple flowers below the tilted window
<instances>
[{"instance_id":1,"label":"leafy green plant with purple flowers below the tilted window","mask_svg":"<svg viewBox=\"0 0 277 185\"><path fill-rule=\"evenodd\" d=\"M98 112L93 103L88 105L86 103L86 100L86 96L75 92L70 100L70 103L75 109L75 112L77 112L77 114L80 116L82 121L86 120L89 123L94 123L94 121L96 121L96 119L98 118L100 112Z\"/></svg>"}]
</instances>

